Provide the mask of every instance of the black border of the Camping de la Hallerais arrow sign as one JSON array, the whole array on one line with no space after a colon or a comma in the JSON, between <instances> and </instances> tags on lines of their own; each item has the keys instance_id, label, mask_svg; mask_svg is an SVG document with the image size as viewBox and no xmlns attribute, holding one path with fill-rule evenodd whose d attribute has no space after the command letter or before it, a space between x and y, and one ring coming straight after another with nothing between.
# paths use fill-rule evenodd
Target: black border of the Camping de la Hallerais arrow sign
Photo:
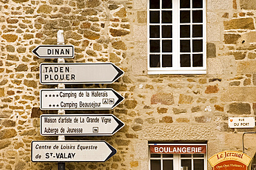
<instances>
[{"instance_id":1,"label":"black border of the Camping de la Hallerais arrow sign","mask_svg":"<svg viewBox=\"0 0 256 170\"><path fill-rule=\"evenodd\" d=\"M111 108L42 108L42 91L112 91L116 97L118 97L118 101ZM119 93L117 93L113 88L45 88L40 90L40 109L41 110L109 110L116 107L122 100L125 100L125 97L122 97Z\"/></svg>"}]
</instances>

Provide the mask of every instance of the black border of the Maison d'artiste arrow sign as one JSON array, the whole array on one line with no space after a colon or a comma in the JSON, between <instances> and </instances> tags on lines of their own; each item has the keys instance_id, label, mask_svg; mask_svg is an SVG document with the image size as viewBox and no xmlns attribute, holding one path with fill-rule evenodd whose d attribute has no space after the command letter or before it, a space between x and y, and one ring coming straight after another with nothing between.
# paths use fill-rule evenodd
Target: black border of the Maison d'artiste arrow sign
<instances>
[{"instance_id":1,"label":"black border of the Maison d'artiste arrow sign","mask_svg":"<svg viewBox=\"0 0 256 170\"><path fill-rule=\"evenodd\" d=\"M113 130L113 132L111 133L76 133L76 134L70 134L70 133L62 133L62 134L58 134L58 135L69 135L69 136L76 136L76 135L113 135L115 134L117 131L119 131L123 126L125 126L125 124L119 120L115 115L113 114L64 114L64 115L48 115L48 114L44 114L44 115L40 115L40 135L43 136L57 136L56 134L43 134L42 132L44 131L44 129L42 129L42 122L44 122L43 118L44 116L51 116L51 117L62 117L62 116L68 116L68 117L76 117L76 116L106 116L106 117L113 117L114 120L116 120L116 122L118 123L118 126L116 126L116 129ZM61 123L60 123L61 124Z\"/></svg>"}]
</instances>

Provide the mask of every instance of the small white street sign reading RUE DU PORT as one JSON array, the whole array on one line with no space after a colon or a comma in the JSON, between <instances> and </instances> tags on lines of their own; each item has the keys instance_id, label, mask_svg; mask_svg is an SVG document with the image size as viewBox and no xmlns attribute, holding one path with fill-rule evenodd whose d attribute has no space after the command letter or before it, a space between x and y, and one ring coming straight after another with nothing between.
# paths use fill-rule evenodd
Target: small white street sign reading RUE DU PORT
<instances>
[{"instance_id":1,"label":"small white street sign reading RUE DU PORT","mask_svg":"<svg viewBox=\"0 0 256 170\"><path fill-rule=\"evenodd\" d=\"M228 117L229 128L254 128L255 117Z\"/></svg>"}]
</instances>

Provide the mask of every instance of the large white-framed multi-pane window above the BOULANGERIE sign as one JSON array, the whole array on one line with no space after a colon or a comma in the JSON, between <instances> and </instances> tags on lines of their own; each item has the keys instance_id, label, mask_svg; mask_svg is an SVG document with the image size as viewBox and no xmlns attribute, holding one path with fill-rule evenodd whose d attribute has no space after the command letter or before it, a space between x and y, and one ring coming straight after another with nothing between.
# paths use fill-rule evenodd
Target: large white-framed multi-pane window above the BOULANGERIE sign
<instances>
[{"instance_id":1,"label":"large white-framed multi-pane window above the BOULANGERIE sign","mask_svg":"<svg viewBox=\"0 0 256 170\"><path fill-rule=\"evenodd\" d=\"M205 0L149 0L148 73L205 74Z\"/></svg>"}]
</instances>

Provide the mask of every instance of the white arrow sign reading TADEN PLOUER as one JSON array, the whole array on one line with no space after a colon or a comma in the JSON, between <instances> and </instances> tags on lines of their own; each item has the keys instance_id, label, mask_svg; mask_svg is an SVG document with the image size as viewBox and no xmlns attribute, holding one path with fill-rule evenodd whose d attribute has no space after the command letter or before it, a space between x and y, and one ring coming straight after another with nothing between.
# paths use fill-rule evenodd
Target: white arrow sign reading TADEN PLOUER
<instances>
[{"instance_id":1,"label":"white arrow sign reading TADEN PLOUER","mask_svg":"<svg viewBox=\"0 0 256 170\"><path fill-rule=\"evenodd\" d=\"M123 74L113 63L40 64L41 84L106 84Z\"/></svg>"}]
</instances>

